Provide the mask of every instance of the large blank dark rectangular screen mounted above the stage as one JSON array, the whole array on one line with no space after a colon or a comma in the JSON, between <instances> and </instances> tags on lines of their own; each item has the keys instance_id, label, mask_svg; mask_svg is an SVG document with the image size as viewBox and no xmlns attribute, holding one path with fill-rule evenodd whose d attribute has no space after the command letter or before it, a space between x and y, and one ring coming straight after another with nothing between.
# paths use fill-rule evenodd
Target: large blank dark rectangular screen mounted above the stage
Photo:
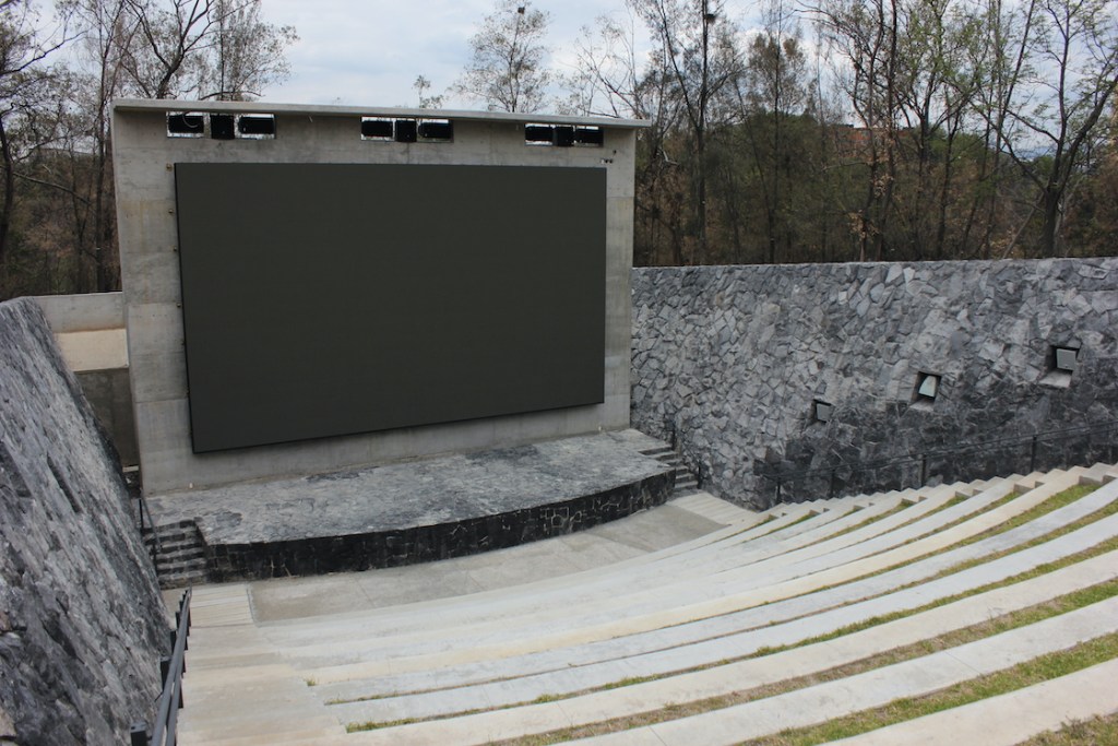
<instances>
[{"instance_id":1,"label":"large blank dark rectangular screen mounted above the stage","mask_svg":"<svg viewBox=\"0 0 1118 746\"><path fill-rule=\"evenodd\" d=\"M604 169L174 176L196 453L603 402Z\"/></svg>"}]
</instances>

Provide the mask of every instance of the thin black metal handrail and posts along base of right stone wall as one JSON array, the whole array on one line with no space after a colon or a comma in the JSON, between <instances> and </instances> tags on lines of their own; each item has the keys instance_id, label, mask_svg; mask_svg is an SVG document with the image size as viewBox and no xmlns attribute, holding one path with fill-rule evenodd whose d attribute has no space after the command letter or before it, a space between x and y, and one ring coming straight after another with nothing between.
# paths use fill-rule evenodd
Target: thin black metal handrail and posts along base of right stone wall
<instances>
[{"instance_id":1,"label":"thin black metal handrail and posts along base of right stone wall","mask_svg":"<svg viewBox=\"0 0 1118 746\"><path fill-rule=\"evenodd\" d=\"M813 478L830 478L830 488L827 497L835 497L835 481L836 475L840 471L847 474L858 474L869 471L875 471L880 469L887 469L890 466L903 466L903 465L920 465L920 479L918 487L923 487L928 480L928 462L936 459L946 459L953 456L960 456L967 453L989 453L998 447L1013 446L1013 445L1024 445L1029 444L1029 471L1036 470L1036 457L1038 457L1038 445L1043 441L1065 441L1074 435L1093 435L1097 433L1107 433L1118 431L1118 419L1111 419L1105 423L1092 423L1088 425L1077 425L1073 427L1065 427L1058 431L1050 431L1046 433L1033 433L1032 435L1016 435L1010 437L1001 437L991 441L982 441L978 443L964 443L949 448L929 450L919 454L906 454L899 456L888 456L884 459L868 460L868 461L842 461L836 464L828 466L814 466L812 469L804 469L799 471L780 471L779 468L774 469L768 472L760 472L757 476L769 480L775 483L776 494L775 500L770 504L777 504L781 502L781 488L785 484L795 482L798 480L808 480Z\"/></svg>"}]
</instances>

